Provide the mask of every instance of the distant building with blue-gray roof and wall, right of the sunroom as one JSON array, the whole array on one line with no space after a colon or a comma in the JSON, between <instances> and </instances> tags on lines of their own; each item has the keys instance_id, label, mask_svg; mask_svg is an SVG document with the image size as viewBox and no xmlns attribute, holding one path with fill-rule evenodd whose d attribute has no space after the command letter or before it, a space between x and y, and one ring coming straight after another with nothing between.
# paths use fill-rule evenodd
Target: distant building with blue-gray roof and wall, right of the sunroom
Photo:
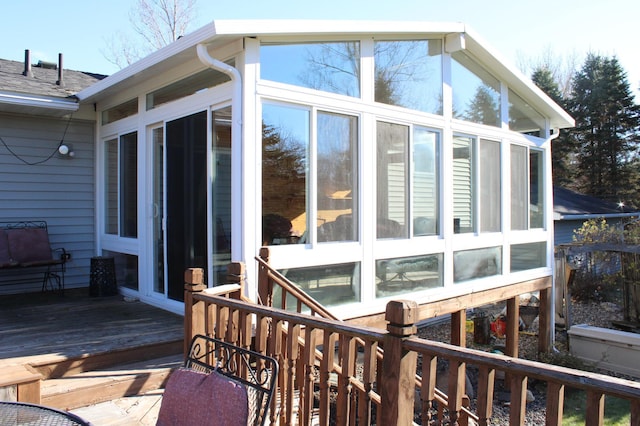
<instances>
[{"instance_id":1,"label":"distant building with blue-gray roof and wall, right of the sunroom","mask_svg":"<svg viewBox=\"0 0 640 426\"><path fill-rule=\"evenodd\" d=\"M555 245L573 242L574 231L590 219L605 219L609 225L623 226L640 216L640 211L624 205L583 195L570 189L553 188Z\"/></svg>"}]
</instances>

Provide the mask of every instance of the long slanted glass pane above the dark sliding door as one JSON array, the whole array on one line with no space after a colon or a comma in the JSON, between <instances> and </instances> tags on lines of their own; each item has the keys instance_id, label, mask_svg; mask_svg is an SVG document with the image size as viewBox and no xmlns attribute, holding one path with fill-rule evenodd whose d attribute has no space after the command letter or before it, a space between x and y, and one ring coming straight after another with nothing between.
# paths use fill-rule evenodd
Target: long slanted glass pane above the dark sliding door
<instances>
[{"instance_id":1,"label":"long slanted glass pane above the dark sliding door","mask_svg":"<svg viewBox=\"0 0 640 426\"><path fill-rule=\"evenodd\" d=\"M235 61L228 61L230 65L234 65ZM231 81L228 75L207 68L197 74L183 78L168 86L162 87L147 94L147 111L167 102L175 101L185 96L193 95L201 90L215 87L220 84Z\"/></svg>"}]
</instances>

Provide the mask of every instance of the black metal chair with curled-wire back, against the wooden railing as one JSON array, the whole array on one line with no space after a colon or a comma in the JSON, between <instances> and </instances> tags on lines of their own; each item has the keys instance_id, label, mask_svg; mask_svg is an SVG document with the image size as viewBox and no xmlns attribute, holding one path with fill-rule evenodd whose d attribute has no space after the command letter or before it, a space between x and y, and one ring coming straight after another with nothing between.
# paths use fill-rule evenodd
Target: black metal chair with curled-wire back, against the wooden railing
<instances>
[{"instance_id":1,"label":"black metal chair with curled-wire back, against the wooden railing","mask_svg":"<svg viewBox=\"0 0 640 426\"><path fill-rule=\"evenodd\" d=\"M215 375L219 375L220 377L224 376L223 380L227 382L231 381L238 386L244 387L242 391L246 389L246 393L242 394L243 401L240 403L246 403L244 407L247 410L247 424L257 426L265 423L278 378L278 362L274 358L224 342L220 339L196 335L191 341L184 368L181 370L187 370L191 375L198 373L202 380L207 380L204 378L205 376L208 376L210 379L214 379L215 377L211 376ZM178 372L174 372L173 374L176 373ZM179 374L181 373L185 372L181 371ZM204 373L204 375L202 373ZM169 379L169 383L167 383L163 405L165 399L174 397L174 395L168 395L167 392L190 392L189 389L185 390L185 383L192 379L183 381L183 386L180 387L180 385L175 385L175 381L171 383L172 378L173 376ZM198 378L195 380L197 381ZM218 381L216 383L220 382ZM224 385L228 385L228 383L224 383ZM191 387L189 384L186 386ZM218 386L218 388L220 388L220 386ZM223 391L225 392L223 397L227 398L226 401L210 401L204 405L227 404L228 407L231 407L231 404L237 403L238 401L229 401L228 398L236 398L238 395L235 393L236 390L238 390L237 387L231 385L229 391ZM210 389L204 391L202 389L198 390L198 398L202 397L203 392L209 391ZM244 398L246 398L246 400ZM163 407L161 407L161 411L162 409ZM198 410L198 406L192 406L191 409ZM229 410L230 409L231 408L229 408Z\"/></svg>"}]
</instances>

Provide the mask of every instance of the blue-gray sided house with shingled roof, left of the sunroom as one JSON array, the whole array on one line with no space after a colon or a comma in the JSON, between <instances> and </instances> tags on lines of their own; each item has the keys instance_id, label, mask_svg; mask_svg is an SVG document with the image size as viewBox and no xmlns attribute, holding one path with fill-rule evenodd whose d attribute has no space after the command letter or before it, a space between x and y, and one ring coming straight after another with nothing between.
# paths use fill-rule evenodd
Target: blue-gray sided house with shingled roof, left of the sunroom
<instances>
[{"instance_id":1,"label":"blue-gray sided house with shingled roof, left of the sunroom","mask_svg":"<svg viewBox=\"0 0 640 426\"><path fill-rule=\"evenodd\" d=\"M24 62L0 59L0 221L46 220L52 245L72 255L67 287L88 285L96 253L95 112L75 94L101 78L33 65L28 51ZM0 271L0 294L39 291L42 274L30 271Z\"/></svg>"}]
</instances>

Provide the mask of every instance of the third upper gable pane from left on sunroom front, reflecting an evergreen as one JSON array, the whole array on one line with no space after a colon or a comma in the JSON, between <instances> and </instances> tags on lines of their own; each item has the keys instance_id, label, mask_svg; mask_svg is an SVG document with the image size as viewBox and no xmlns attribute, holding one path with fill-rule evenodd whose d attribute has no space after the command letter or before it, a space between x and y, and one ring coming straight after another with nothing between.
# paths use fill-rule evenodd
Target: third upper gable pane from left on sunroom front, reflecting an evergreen
<instances>
[{"instance_id":1,"label":"third upper gable pane from left on sunroom front, reflecting an evergreen","mask_svg":"<svg viewBox=\"0 0 640 426\"><path fill-rule=\"evenodd\" d=\"M500 81L465 53L451 56L454 118L500 127Z\"/></svg>"}]
</instances>

